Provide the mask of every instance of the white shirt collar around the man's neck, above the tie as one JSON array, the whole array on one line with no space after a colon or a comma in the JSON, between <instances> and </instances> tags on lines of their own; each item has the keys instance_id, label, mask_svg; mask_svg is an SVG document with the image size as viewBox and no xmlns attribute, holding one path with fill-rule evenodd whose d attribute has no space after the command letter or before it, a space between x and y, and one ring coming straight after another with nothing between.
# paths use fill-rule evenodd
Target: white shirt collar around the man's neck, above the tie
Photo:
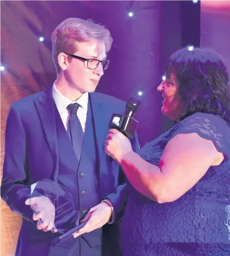
<instances>
[{"instance_id":1,"label":"white shirt collar around the man's neck, above the tie","mask_svg":"<svg viewBox=\"0 0 230 256\"><path fill-rule=\"evenodd\" d=\"M82 107L84 110L87 111L88 107L88 101L89 101L89 93L83 93L82 96L77 99L77 101L70 101L67 97L65 97L63 94L59 92L59 90L56 88L56 84L54 82L54 85L52 86L52 97L54 98L54 102L58 108L58 111L63 113L63 111L67 110L67 107L71 103L78 103L80 107Z\"/></svg>"}]
</instances>

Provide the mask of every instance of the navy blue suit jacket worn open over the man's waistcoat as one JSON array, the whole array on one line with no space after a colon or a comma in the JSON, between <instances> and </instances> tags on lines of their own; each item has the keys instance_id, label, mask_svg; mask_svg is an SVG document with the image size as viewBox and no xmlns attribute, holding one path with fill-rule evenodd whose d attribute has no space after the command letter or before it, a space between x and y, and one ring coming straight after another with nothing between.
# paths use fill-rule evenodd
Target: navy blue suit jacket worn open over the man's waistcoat
<instances>
[{"instance_id":1,"label":"navy blue suit jacket worn open over the man's waistcoat","mask_svg":"<svg viewBox=\"0 0 230 256\"><path fill-rule=\"evenodd\" d=\"M23 216L16 250L19 256L46 256L51 241L60 235L39 231L32 220L32 210L25 205L30 196L30 185L43 178L54 179L59 166L51 88L12 103L7 117L1 196L12 211ZM127 201L126 183L117 162L108 160L104 147L109 120L113 113L123 114L125 102L101 93L90 93L89 96L99 155L100 192L113 203L115 222L119 223ZM138 151L136 135L131 142L133 149ZM70 160L68 155L65 159ZM114 225L105 227L108 246L116 237L112 229ZM64 254L68 255L68 248L56 255Z\"/></svg>"}]
</instances>

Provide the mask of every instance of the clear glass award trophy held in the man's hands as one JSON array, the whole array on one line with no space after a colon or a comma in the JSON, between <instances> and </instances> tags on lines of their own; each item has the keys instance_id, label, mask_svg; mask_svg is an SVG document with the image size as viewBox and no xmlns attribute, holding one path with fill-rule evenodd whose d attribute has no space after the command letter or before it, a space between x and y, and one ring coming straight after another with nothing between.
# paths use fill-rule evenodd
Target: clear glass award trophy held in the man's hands
<instances>
[{"instance_id":1,"label":"clear glass award trophy held in the man's hands","mask_svg":"<svg viewBox=\"0 0 230 256\"><path fill-rule=\"evenodd\" d=\"M67 233L76 227L79 219L78 205L64 186L42 179L31 186L30 207L34 213L42 212L42 223Z\"/></svg>"}]
</instances>

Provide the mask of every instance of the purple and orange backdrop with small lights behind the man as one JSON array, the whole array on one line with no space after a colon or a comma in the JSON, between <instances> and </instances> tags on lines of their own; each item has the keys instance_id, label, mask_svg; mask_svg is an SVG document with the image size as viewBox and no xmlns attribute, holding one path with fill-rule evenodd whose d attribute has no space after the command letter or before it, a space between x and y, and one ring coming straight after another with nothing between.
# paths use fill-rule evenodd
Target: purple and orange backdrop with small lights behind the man
<instances>
[{"instance_id":1,"label":"purple and orange backdrop with small lights behind the man","mask_svg":"<svg viewBox=\"0 0 230 256\"><path fill-rule=\"evenodd\" d=\"M110 30L110 67L96 90L124 101L137 96L139 90L143 92L136 115L140 121L140 145L171 127L172 122L161 114L162 97L156 88L161 83L166 58L188 42L183 19L191 27L194 19L200 18L198 5L194 7L192 1L186 1L190 6L184 8L182 2L1 1L1 65L5 67L1 71L1 166L9 106L54 82L51 33L70 17L92 19ZM132 17L128 15L130 11ZM191 44L199 42L197 29L193 24L189 32L189 38L194 40L189 41ZM45 38L42 42L38 40L41 36ZM1 255L14 255L21 216L13 214L2 201L1 212Z\"/></svg>"}]
</instances>

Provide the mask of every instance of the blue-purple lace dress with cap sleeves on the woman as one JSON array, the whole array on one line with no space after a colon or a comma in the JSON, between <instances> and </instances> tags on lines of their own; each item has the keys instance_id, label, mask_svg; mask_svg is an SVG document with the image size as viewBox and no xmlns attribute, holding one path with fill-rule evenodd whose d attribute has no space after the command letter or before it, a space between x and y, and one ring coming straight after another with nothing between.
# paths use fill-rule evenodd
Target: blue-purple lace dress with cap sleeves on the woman
<instances>
[{"instance_id":1,"label":"blue-purple lace dress with cap sleeves on the woman","mask_svg":"<svg viewBox=\"0 0 230 256\"><path fill-rule=\"evenodd\" d=\"M230 255L230 128L218 115L198 112L145 144L141 157L158 165L178 133L198 133L225 158L174 202L156 203L129 185L121 223L123 256Z\"/></svg>"}]
</instances>

